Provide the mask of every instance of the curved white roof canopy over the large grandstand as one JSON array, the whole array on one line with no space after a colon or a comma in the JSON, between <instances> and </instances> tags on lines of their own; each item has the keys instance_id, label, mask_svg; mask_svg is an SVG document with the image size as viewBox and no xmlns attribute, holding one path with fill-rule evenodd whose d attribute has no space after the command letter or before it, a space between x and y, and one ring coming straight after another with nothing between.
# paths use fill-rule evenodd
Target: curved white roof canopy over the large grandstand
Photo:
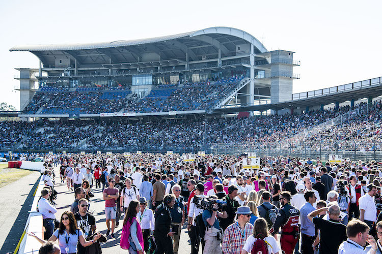
<instances>
[{"instance_id":1,"label":"curved white roof canopy over the large grandstand","mask_svg":"<svg viewBox=\"0 0 382 254\"><path fill-rule=\"evenodd\" d=\"M253 44L255 53L267 49L249 33L232 27L210 27L189 33L149 39L81 44L17 45L10 51L29 51L45 65L54 65L58 56L77 60L78 65L102 65L142 61L145 53L156 53L160 60L185 60L186 53L191 61L234 56L236 46Z\"/></svg>"}]
</instances>

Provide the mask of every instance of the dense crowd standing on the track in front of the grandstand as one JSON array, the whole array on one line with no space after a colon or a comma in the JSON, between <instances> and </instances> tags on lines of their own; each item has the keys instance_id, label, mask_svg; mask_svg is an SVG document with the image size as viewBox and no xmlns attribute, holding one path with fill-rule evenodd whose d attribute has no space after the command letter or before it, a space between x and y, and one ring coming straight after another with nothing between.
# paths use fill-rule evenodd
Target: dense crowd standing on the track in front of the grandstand
<instances>
[{"instance_id":1,"label":"dense crowd standing on the track in front of the grandstand","mask_svg":"<svg viewBox=\"0 0 382 254\"><path fill-rule=\"evenodd\" d=\"M38 202L44 239L27 233L43 244L40 253L100 253L100 242L119 237L129 253L178 253L181 238L189 238L192 254L381 253L382 163L265 156L248 167L251 159L46 155ZM75 200L58 221L54 181L60 180ZM89 212L95 189L105 201L104 234Z\"/></svg>"}]
</instances>

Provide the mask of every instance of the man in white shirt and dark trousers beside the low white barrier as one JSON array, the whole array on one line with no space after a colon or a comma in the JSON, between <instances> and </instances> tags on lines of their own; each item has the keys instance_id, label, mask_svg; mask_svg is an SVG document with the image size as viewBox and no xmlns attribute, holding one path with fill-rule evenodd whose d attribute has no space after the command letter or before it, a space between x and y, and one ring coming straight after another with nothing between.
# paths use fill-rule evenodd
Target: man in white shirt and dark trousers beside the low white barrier
<instances>
[{"instance_id":1,"label":"man in white shirt and dark trousers beside the low white barrier","mask_svg":"<svg viewBox=\"0 0 382 254\"><path fill-rule=\"evenodd\" d=\"M42 214L42 222L45 228L44 239L49 239L54 230L54 220L56 219L55 213L57 213L56 207L52 206L48 199L50 190L43 188L41 190L41 198L37 204L39 212Z\"/></svg>"}]
</instances>

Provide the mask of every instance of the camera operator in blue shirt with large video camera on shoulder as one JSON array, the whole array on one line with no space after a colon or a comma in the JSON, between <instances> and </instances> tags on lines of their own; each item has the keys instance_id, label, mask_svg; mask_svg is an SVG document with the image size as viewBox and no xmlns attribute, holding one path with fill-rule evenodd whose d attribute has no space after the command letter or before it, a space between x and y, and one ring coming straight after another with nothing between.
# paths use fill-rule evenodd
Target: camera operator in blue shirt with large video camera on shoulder
<instances>
[{"instance_id":1,"label":"camera operator in blue shirt with large video camera on shoulder","mask_svg":"<svg viewBox=\"0 0 382 254\"><path fill-rule=\"evenodd\" d=\"M217 199L215 195L211 195L210 197ZM212 210L205 209L202 214L204 225L206 225L206 233L204 235L204 241L206 243L203 254L222 253L220 242L223 234L217 218L227 218L227 212L217 211L218 207L219 204L214 203Z\"/></svg>"}]
</instances>

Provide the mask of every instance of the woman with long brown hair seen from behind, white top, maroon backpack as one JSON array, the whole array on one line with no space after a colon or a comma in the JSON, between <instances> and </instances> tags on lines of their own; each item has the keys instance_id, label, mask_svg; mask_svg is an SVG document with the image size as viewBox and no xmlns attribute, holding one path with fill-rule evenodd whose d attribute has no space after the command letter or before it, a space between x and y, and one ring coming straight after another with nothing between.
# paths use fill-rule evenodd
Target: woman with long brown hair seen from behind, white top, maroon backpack
<instances>
[{"instance_id":1,"label":"woman with long brown hair seen from behind, white top, maroon backpack","mask_svg":"<svg viewBox=\"0 0 382 254\"><path fill-rule=\"evenodd\" d=\"M253 226L253 235L248 237L248 239L245 241L244 247L241 250L241 254L251 253L253 246L257 240L262 240L265 242L269 254L279 253L280 247L275 237L269 234L268 226L264 218L258 218L255 220Z\"/></svg>"}]
</instances>

